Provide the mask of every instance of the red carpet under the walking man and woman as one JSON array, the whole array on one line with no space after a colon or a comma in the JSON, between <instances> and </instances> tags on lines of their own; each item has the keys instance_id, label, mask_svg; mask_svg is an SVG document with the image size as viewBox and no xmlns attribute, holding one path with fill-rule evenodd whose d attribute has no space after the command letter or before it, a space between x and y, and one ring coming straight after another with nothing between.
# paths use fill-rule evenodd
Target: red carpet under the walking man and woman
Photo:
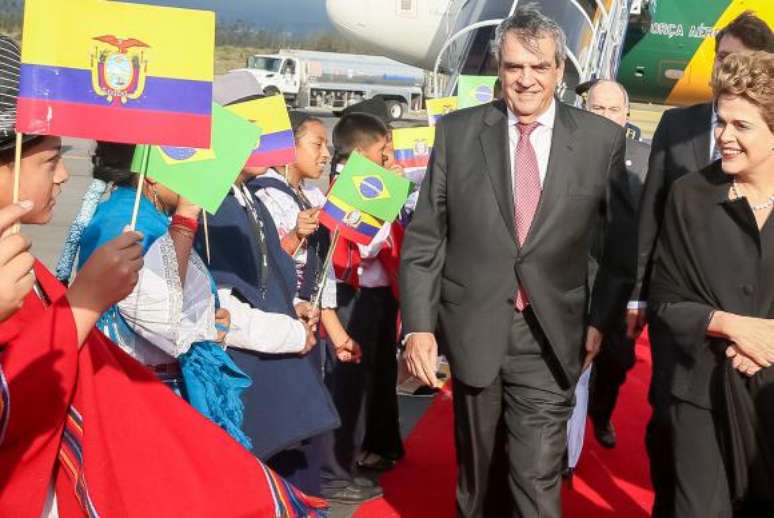
<instances>
[{"instance_id":1,"label":"red carpet under the walking man and woman","mask_svg":"<svg viewBox=\"0 0 774 518\"><path fill-rule=\"evenodd\" d=\"M646 333L643 333L643 337ZM600 447L590 427L573 486L564 486L564 515L569 518L649 516L653 503L645 454L645 425L650 415L647 388L650 351L637 344L637 363L629 372L613 416L618 446ZM454 436L451 392L436 397L406 441L406 457L381 478L384 498L368 502L356 518L454 517Z\"/></svg>"}]
</instances>

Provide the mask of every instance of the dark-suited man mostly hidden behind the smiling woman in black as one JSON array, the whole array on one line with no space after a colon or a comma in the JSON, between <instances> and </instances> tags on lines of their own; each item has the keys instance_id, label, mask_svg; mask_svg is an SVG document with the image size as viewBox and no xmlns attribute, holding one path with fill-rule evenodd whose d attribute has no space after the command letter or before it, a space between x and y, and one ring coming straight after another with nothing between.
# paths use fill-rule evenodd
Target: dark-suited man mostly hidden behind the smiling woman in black
<instances>
[{"instance_id":1,"label":"dark-suited man mostly hidden behind the smiling woman in black","mask_svg":"<svg viewBox=\"0 0 774 518\"><path fill-rule=\"evenodd\" d=\"M733 53L745 50L774 52L774 36L766 21L744 12L715 37L714 68ZM640 203L637 283L629 302L627 332L635 337L645 323L652 255L661 228L669 189L675 180L699 171L716 160L712 132L716 116L712 103L664 112L653 135L648 175ZM645 435L650 474L655 490L653 516L672 515L674 462L669 404L674 360L672 343L658 324L648 328L653 358L649 400L653 414Z\"/></svg>"}]
</instances>

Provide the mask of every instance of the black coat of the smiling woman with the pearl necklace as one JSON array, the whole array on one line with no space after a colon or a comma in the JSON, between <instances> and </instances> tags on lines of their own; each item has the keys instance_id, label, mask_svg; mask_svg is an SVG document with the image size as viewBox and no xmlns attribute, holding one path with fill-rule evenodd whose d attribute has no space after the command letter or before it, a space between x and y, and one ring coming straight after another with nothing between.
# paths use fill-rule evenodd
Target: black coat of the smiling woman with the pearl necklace
<instances>
[{"instance_id":1,"label":"black coat of the smiling woman with the pearl necklace","mask_svg":"<svg viewBox=\"0 0 774 518\"><path fill-rule=\"evenodd\" d=\"M654 257L649 304L675 352L672 393L717 405L727 343L706 336L712 312L774 317L774 223L759 232L745 199L729 200L720 161L672 187Z\"/></svg>"}]
</instances>

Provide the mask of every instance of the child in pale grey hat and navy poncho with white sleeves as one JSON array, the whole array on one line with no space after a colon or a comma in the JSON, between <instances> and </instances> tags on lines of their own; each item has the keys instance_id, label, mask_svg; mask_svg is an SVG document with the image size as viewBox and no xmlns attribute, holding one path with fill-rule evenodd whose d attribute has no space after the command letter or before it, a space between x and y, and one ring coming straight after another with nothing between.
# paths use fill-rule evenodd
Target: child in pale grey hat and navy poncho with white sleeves
<instances>
[{"instance_id":1,"label":"child in pale grey hat and navy poncho with white sleeves","mask_svg":"<svg viewBox=\"0 0 774 518\"><path fill-rule=\"evenodd\" d=\"M261 97L260 86L250 74L217 78L215 87L218 101L229 110L245 108ZM229 195L208 218L208 266L232 315L244 310L262 312L276 321L264 330L266 335L292 338L293 327L306 327L314 340L319 312L310 311L310 304L297 298L296 265L282 249L269 210L254 194L266 169L243 166ZM197 235L196 247L206 253L203 231ZM252 451L307 494L319 494L315 437L339 425L322 382L320 348L296 351L302 354L228 352L253 379L243 394L244 430L253 442Z\"/></svg>"}]
</instances>

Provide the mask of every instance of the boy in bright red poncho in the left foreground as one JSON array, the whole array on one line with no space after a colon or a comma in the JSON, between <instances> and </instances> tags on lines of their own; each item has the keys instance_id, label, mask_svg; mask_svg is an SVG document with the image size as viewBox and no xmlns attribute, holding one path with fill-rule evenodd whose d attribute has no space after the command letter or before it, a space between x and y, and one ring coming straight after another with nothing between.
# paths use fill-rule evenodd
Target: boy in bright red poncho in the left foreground
<instances>
[{"instance_id":1,"label":"boy in bright red poncho in the left foreground","mask_svg":"<svg viewBox=\"0 0 774 518\"><path fill-rule=\"evenodd\" d=\"M0 37L0 210L12 205L18 76L19 49ZM25 137L21 157L20 197L31 202L22 222L45 224L68 178L61 141ZM140 239L126 232L98 249L67 289L23 253L12 261L29 261L35 281L10 316L0 298L0 516L314 516L324 502L285 484L94 329L137 282ZM19 279L3 255L9 243L13 252L0 241L3 282ZM11 283L17 297L25 282L32 275Z\"/></svg>"}]
</instances>

